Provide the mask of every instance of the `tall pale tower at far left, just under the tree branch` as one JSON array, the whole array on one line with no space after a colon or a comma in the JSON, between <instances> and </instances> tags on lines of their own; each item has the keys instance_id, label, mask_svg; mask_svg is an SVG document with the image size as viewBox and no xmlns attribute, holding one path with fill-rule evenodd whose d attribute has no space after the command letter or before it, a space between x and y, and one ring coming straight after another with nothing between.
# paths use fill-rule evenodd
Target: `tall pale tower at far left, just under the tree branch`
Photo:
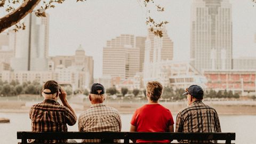
<instances>
[{"instance_id":1,"label":"tall pale tower at far left, just under the tree branch","mask_svg":"<svg viewBox=\"0 0 256 144\"><path fill-rule=\"evenodd\" d=\"M38 18L29 14L23 19L25 30L19 30L14 40L13 70L47 70L49 49L49 15Z\"/></svg>"}]
</instances>

